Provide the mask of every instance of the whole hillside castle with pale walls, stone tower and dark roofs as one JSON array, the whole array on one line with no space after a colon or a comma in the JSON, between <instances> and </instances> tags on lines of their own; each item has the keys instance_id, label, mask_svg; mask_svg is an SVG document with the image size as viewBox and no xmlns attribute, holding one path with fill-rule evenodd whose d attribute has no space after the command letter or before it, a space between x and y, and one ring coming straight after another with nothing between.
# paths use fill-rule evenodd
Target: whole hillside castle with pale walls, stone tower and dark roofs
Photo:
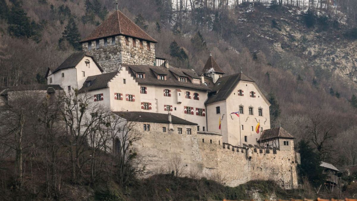
<instances>
[{"instance_id":1,"label":"whole hillside castle with pale walls, stone tower and dark roofs","mask_svg":"<svg viewBox=\"0 0 357 201\"><path fill-rule=\"evenodd\" d=\"M81 41L83 52L47 70L47 84L78 89L137 122L144 135L135 147L149 175L180 156L187 171L224 176L230 186L296 186L294 137L270 128L270 103L255 81L242 72L225 76L212 55L202 72L177 68L155 55L156 43L117 10Z\"/></svg>"}]
</instances>

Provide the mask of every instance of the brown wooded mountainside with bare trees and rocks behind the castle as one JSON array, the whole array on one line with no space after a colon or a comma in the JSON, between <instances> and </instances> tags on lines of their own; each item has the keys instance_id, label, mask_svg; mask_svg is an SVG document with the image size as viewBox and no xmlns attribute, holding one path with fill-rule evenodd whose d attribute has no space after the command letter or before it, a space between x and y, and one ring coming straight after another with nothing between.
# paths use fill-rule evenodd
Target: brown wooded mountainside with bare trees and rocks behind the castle
<instances>
[{"instance_id":1,"label":"brown wooded mountainside with bare trees and rocks behind the castle","mask_svg":"<svg viewBox=\"0 0 357 201\"><path fill-rule=\"evenodd\" d=\"M355 164L357 146L337 147L357 137L356 97L350 102L357 93L356 5L307 11L294 7L297 1L279 3L120 0L119 9L159 41L158 56L177 66L200 72L212 52L227 74L242 68L269 97L272 127L286 128L296 143L306 138L321 160ZM0 4L0 88L45 83L47 67L79 50L77 42L116 7L112 0Z\"/></svg>"}]
</instances>

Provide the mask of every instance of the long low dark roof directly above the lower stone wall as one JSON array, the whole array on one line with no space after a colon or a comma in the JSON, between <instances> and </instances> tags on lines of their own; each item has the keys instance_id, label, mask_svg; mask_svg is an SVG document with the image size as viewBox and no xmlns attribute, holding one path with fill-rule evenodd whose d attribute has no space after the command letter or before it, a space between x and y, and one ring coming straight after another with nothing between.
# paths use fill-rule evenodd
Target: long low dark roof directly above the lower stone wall
<instances>
[{"instance_id":1,"label":"long low dark roof directly above the lower stone wall","mask_svg":"<svg viewBox=\"0 0 357 201\"><path fill-rule=\"evenodd\" d=\"M153 113L153 112L113 112L113 113L128 121L170 123L168 114ZM171 123L173 124L197 125L197 123L186 121L185 119L178 118L174 115L171 115L171 119L172 119Z\"/></svg>"}]
</instances>

